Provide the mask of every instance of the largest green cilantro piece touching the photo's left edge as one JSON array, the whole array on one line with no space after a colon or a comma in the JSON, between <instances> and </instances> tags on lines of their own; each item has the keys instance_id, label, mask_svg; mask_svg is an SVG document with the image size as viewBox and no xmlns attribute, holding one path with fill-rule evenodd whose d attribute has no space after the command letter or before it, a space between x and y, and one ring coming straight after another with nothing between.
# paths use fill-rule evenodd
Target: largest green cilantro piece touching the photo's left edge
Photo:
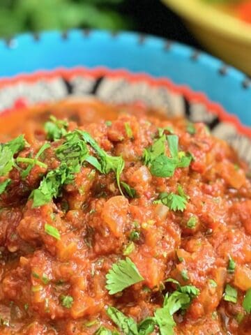
<instances>
[{"instance_id":1,"label":"largest green cilantro piece touching the photo's left edge","mask_svg":"<svg viewBox=\"0 0 251 335\"><path fill-rule=\"evenodd\" d=\"M15 165L14 155L25 147L24 135L0 144L0 177L6 176Z\"/></svg>"}]
</instances>

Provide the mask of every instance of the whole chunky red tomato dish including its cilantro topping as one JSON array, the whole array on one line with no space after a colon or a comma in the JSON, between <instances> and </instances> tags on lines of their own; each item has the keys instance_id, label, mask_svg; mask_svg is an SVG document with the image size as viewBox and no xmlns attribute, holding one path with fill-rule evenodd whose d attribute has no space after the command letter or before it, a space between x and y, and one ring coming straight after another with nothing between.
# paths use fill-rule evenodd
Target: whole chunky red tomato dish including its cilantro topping
<instances>
[{"instance_id":1,"label":"whole chunky red tomato dish including its cilantro topping","mask_svg":"<svg viewBox=\"0 0 251 335\"><path fill-rule=\"evenodd\" d=\"M250 174L204 124L63 101L0 133L0 334L251 334Z\"/></svg>"}]
</instances>

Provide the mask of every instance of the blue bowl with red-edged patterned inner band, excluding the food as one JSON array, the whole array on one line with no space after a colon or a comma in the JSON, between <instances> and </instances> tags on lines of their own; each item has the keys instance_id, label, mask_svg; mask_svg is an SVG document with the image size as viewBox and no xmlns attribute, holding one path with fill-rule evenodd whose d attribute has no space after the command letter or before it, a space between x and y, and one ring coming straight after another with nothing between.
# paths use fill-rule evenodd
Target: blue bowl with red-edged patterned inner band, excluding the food
<instances>
[{"instance_id":1,"label":"blue bowl with red-edged patterned inner band, excluding the food","mask_svg":"<svg viewBox=\"0 0 251 335\"><path fill-rule=\"evenodd\" d=\"M56 31L0 41L0 122L26 105L64 98L143 101L203 121L251 165L251 83L190 47L107 31Z\"/></svg>"}]
</instances>

